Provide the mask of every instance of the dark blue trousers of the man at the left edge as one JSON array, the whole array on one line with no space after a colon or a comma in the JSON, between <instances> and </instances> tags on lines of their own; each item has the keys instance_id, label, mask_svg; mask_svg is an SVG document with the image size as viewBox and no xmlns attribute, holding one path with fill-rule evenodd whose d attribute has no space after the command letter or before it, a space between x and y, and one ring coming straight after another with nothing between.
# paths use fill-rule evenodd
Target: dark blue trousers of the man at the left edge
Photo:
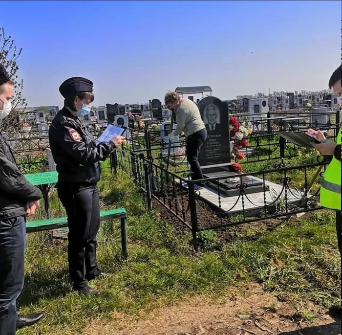
<instances>
[{"instance_id":1,"label":"dark blue trousers of the man at the left edge","mask_svg":"<svg viewBox=\"0 0 342 335\"><path fill-rule=\"evenodd\" d=\"M0 220L0 335L14 335L17 299L24 284L26 224L23 217Z\"/></svg>"}]
</instances>

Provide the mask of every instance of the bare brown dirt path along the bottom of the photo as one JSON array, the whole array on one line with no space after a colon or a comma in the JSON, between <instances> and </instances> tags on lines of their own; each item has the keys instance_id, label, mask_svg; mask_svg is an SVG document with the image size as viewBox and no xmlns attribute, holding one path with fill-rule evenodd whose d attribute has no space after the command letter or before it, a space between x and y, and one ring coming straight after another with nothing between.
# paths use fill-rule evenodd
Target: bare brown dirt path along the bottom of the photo
<instances>
[{"instance_id":1,"label":"bare brown dirt path along the bottom of the photo","mask_svg":"<svg viewBox=\"0 0 342 335\"><path fill-rule=\"evenodd\" d=\"M114 320L93 321L84 335L341 335L341 323L319 314L308 325L295 308L281 303L258 286L230 294L223 303L203 297L183 300L177 306L154 310L144 320L114 315Z\"/></svg>"}]
</instances>

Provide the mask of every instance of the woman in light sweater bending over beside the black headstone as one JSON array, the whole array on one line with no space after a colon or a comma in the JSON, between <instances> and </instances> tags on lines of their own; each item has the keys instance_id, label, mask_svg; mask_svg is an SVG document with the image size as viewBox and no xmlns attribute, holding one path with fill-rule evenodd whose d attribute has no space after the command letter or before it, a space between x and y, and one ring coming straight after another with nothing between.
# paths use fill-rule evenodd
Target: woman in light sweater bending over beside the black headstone
<instances>
[{"instance_id":1,"label":"woman in light sweater bending over beside the black headstone","mask_svg":"<svg viewBox=\"0 0 342 335\"><path fill-rule=\"evenodd\" d=\"M198 163L198 155L207 139L207 129L198 107L193 101L181 98L176 92L166 93L164 100L165 105L170 106L176 112L177 127L169 135L169 138L172 139L184 132L187 138L186 151L192 172L192 180L203 179L202 170Z\"/></svg>"}]
</instances>

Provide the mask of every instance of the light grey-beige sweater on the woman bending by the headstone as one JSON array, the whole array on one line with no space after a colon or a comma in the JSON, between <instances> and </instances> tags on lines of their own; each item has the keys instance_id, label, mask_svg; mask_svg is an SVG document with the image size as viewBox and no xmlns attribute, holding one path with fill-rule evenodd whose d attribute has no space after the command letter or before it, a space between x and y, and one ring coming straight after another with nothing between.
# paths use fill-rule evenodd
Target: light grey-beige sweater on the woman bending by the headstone
<instances>
[{"instance_id":1,"label":"light grey-beige sweater on the woman bending by the headstone","mask_svg":"<svg viewBox=\"0 0 342 335\"><path fill-rule=\"evenodd\" d=\"M197 105L189 99L181 100L176 110L176 121L175 136L184 132L185 136L188 137L205 128Z\"/></svg>"}]
</instances>

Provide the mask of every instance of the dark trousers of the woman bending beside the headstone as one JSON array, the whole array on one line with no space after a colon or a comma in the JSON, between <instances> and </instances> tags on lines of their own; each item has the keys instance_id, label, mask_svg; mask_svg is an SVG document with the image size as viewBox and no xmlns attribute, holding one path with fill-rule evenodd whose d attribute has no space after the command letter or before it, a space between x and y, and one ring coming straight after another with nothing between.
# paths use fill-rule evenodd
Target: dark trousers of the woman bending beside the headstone
<instances>
[{"instance_id":1,"label":"dark trousers of the woman bending beside the headstone","mask_svg":"<svg viewBox=\"0 0 342 335\"><path fill-rule=\"evenodd\" d=\"M192 172L192 180L203 179L202 169L198 163L198 155L207 140L207 129L203 128L187 138L187 159Z\"/></svg>"}]
</instances>

